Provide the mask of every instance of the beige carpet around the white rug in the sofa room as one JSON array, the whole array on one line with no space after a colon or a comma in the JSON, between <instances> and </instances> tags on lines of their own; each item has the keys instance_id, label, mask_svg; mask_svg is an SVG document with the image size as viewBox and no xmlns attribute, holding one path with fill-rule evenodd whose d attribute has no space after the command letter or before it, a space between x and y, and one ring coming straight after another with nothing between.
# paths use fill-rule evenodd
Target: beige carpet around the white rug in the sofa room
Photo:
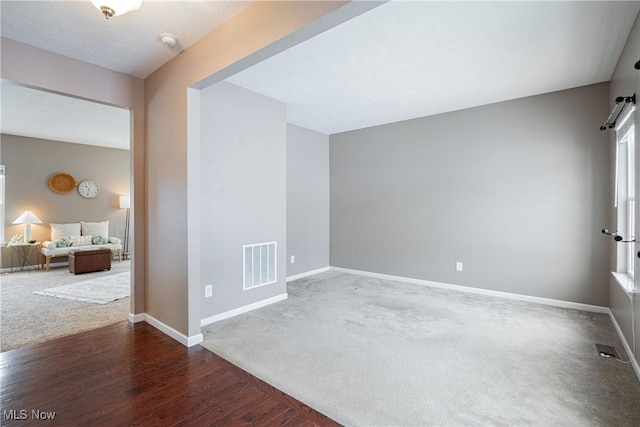
<instances>
[{"instance_id":1,"label":"beige carpet around the white rug in the sofa room","mask_svg":"<svg viewBox=\"0 0 640 427\"><path fill-rule=\"evenodd\" d=\"M126 320L130 298L108 304L34 295L54 286L128 271L129 261L112 263L111 271L73 275L67 267L0 275L0 350L49 341Z\"/></svg>"}]
</instances>

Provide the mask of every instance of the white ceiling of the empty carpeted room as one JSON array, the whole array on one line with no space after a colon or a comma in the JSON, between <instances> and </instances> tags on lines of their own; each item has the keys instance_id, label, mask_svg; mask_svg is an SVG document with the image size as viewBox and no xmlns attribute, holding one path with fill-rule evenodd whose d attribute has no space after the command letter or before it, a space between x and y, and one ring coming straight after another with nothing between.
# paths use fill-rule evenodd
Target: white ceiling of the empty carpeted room
<instances>
[{"instance_id":1,"label":"white ceiling of the empty carpeted room","mask_svg":"<svg viewBox=\"0 0 640 427\"><path fill-rule=\"evenodd\" d=\"M333 134L608 81L639 9L392 1L228 81Z\"/></svg>"}]
</instances>

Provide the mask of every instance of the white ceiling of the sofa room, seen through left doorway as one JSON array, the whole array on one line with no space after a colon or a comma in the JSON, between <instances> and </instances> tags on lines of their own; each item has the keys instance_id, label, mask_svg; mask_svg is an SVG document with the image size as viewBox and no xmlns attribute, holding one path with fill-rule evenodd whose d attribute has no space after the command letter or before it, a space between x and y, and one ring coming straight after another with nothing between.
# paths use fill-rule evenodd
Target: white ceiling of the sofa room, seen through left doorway
<instances>
[{"instance_id":1,"label":"white ceiling of the sofa room, seen through left doorway","mask_svg":"<svg viewBox=\"0 0 640 427\"><path fill-rule=\"evenodd\" d=\"M129 110L6 81L0 100L3 134L129 149Z\"/></svg>"}]
</instances>

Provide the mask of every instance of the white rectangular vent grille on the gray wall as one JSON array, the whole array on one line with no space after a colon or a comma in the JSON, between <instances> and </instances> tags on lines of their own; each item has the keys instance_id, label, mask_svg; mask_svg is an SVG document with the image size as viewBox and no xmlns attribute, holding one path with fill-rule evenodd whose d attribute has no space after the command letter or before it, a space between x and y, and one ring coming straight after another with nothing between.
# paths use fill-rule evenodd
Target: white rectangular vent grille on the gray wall
<instances>
[{"instance_id":1,"label":"white rectangular vent grille on the gray wall","mask_svg":"<svg viewBox=\"0 0 640 427\"><path fill-rule=\"evenodd\" d=\"M242 252L244 290L270 285L278 280L276 274L276 242L244 245Z\"/></svg>"}]
</instances>

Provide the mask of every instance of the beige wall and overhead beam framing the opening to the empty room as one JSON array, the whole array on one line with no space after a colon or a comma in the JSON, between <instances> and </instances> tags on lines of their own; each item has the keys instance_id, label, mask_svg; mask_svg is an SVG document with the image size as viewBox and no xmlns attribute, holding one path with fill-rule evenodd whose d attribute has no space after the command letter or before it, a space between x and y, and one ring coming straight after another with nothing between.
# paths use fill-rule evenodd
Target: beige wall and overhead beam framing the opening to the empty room
<instances>
[{"instance_id":1,"label":"beige wall and overhead beam framing the opening to the empty room","mask_svg":"<svg viewBox=\"0 0 640 427\"><path fill-rule=\"evenodd\" d=\"M198 225L187 221L188 89L209 87L231 69L240 71L379 4L252 2L145 79L149 315L187 337L200 334L203 292L200 283L189 282L189 257L196 254L189 252L187 236Z\"/></svg>"}]
</instances>

